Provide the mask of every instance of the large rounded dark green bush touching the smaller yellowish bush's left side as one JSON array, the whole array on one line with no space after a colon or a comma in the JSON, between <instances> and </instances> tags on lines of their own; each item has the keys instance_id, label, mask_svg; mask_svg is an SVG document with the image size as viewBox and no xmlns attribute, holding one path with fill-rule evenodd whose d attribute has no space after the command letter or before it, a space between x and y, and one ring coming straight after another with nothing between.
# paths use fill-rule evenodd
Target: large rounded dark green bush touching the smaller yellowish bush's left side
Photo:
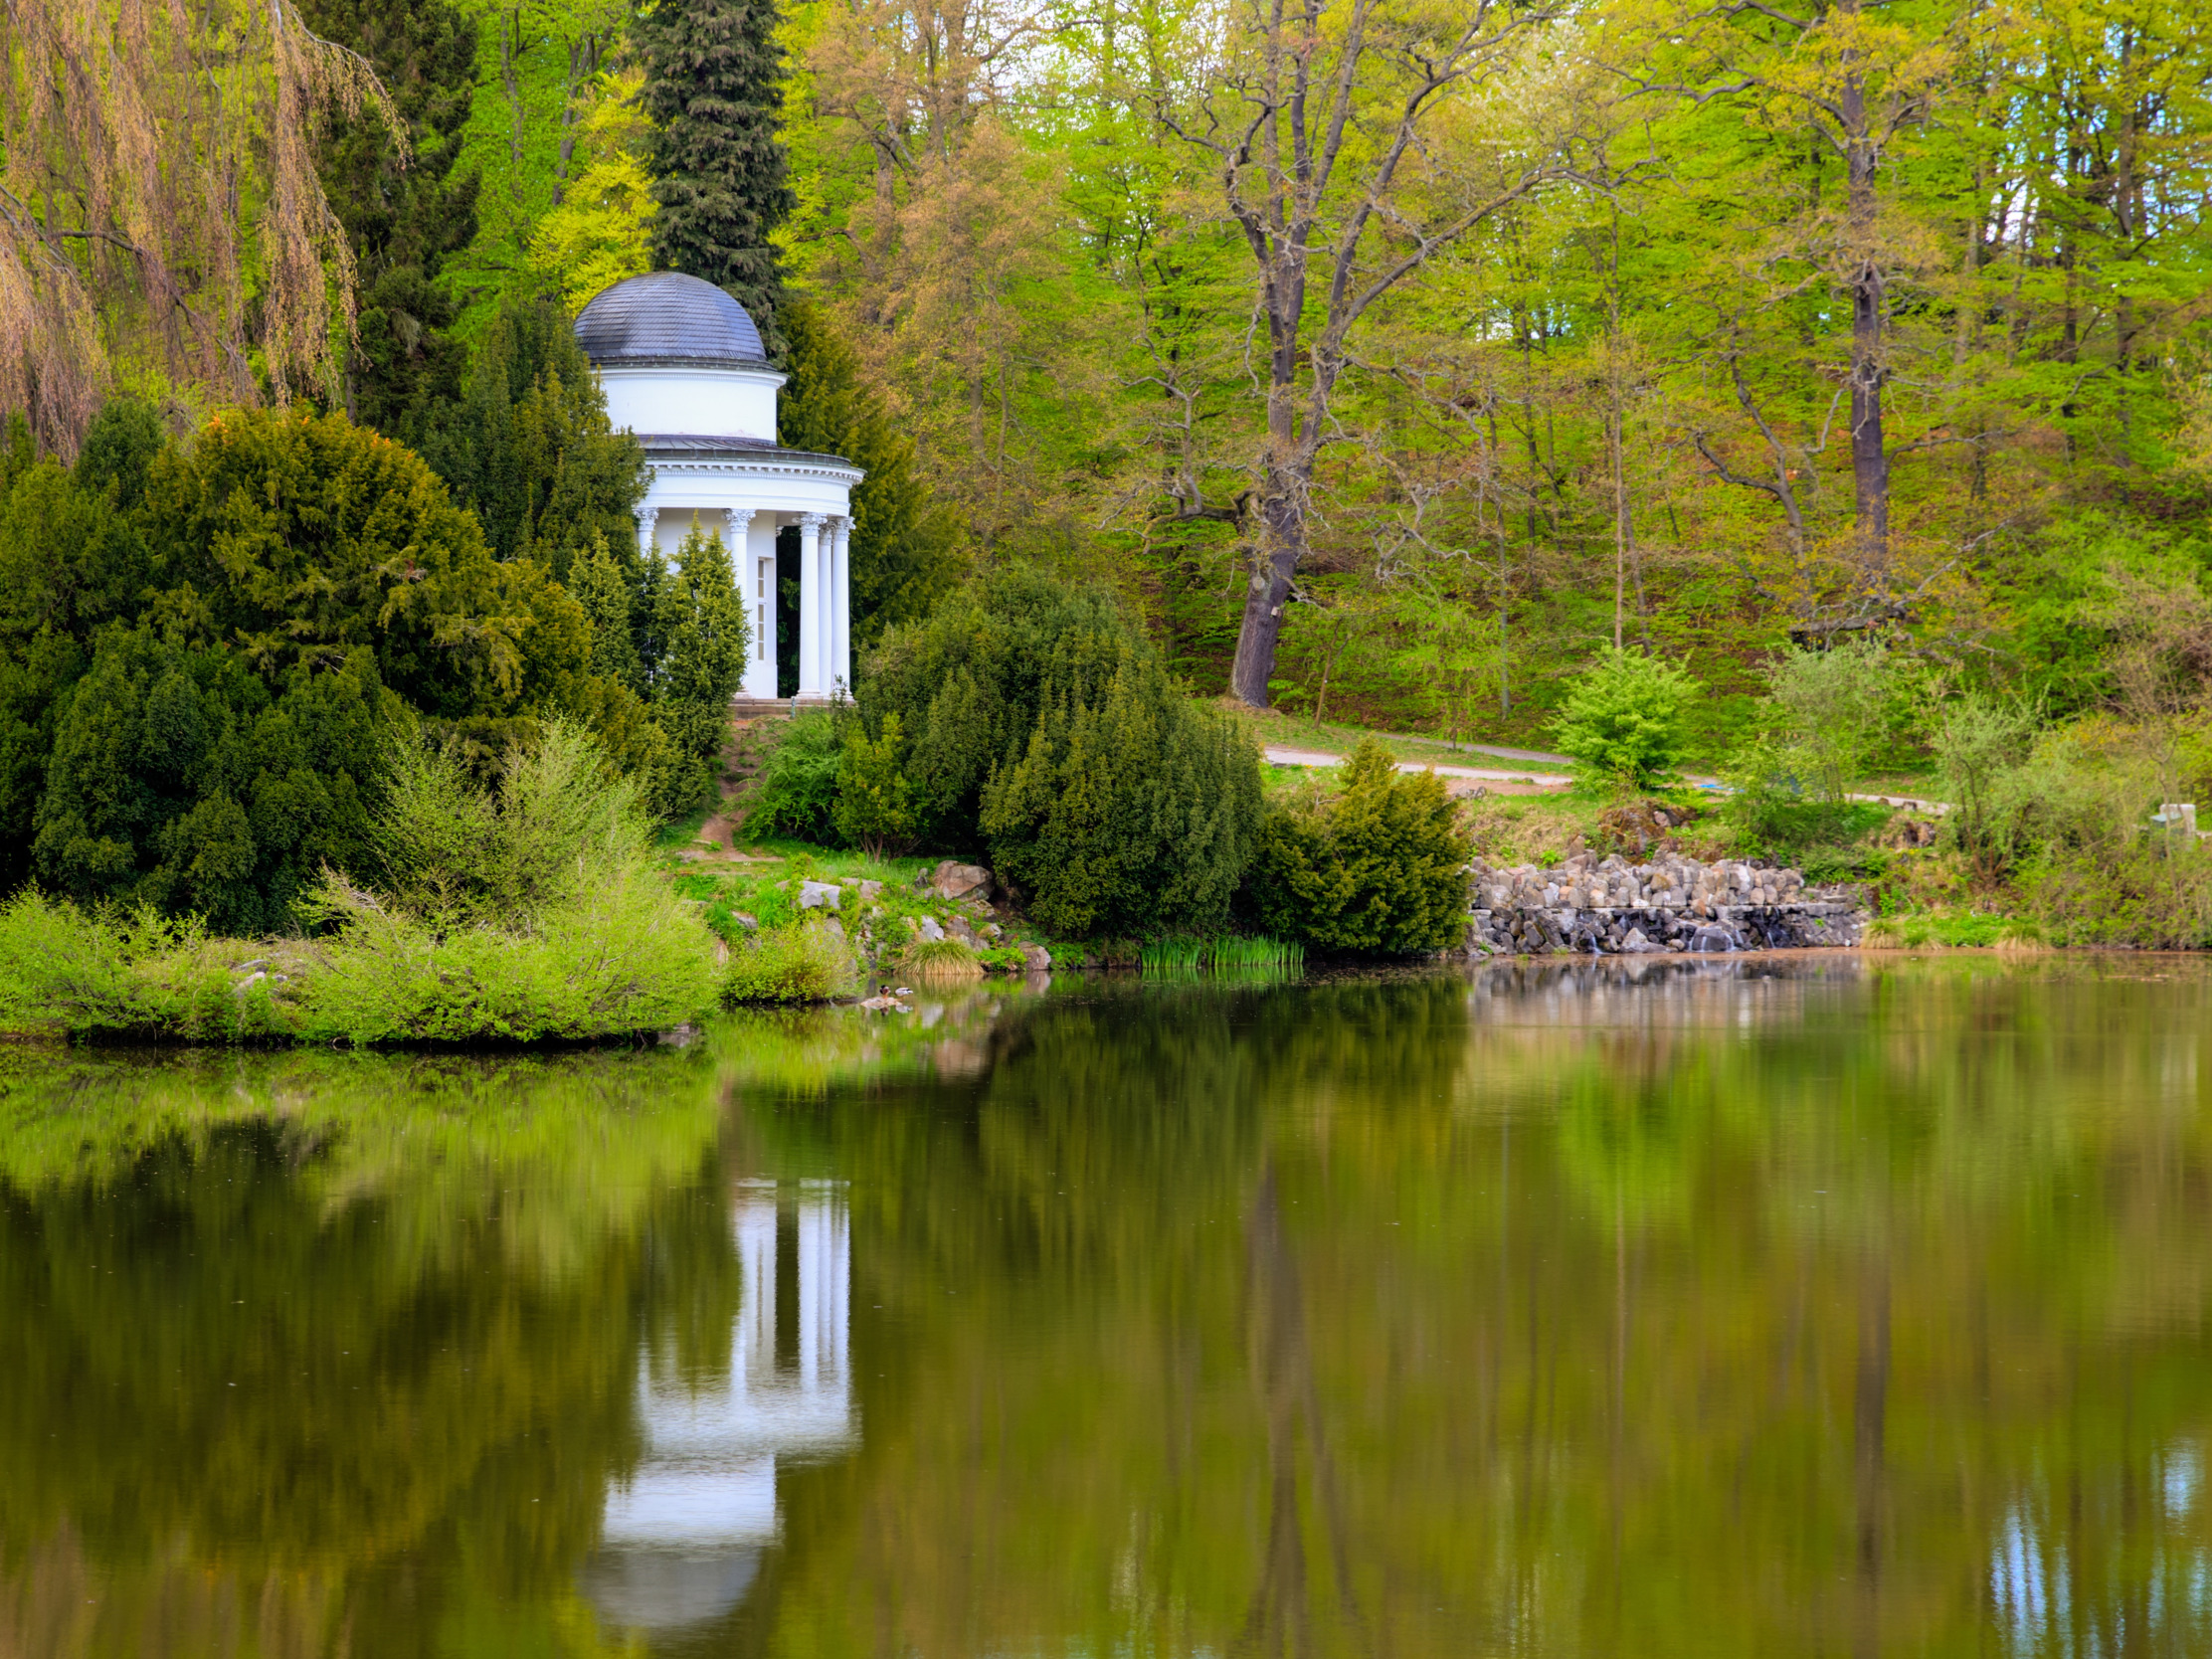
<instances>
[{"instance_id":1,"label":"large rounded dark green bush touching the smaller yellowish bush's left side","mask_svg":"<svg viewBox=\"0 0 2212 1659\"><path fill-rule=\"evenodd\" d=\"M1148 646L1062 641L1029 748L982 792L991 867L1066 938L1210 929L1261 821L1259 754Z\"/></svg>"}]
</instances>

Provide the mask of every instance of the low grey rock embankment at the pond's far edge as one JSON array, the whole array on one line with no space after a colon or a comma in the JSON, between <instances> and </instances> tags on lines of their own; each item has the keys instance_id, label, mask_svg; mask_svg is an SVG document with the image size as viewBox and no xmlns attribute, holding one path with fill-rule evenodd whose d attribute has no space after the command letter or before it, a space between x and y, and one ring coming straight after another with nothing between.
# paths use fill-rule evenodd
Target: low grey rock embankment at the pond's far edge
<instances>
[{"instance_id":1,"label":"low grey rock embankment at the pond's far edge","mask_svg":"<svg viewBox=\"0 0 2212 1659\"><path fill-rule=\"evenodd\" d=\"M1473 956L1635 956L1856 945L1865 916L1847 887L1743 860L1575 854L1542 869L1475 865Z\"/></svg>"}]
</instances>

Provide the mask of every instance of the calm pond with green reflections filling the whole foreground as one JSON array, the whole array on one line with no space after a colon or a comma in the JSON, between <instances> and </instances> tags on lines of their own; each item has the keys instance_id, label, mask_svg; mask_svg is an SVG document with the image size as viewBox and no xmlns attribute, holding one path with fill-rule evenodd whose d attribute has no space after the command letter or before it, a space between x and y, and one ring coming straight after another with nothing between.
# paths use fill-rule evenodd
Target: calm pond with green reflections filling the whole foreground
<instances>
[{"instance_id":1,"label":"calm pond with green reflections filling the whole foreground","mask_svg":"<svg viewBox=\"0 0 2212 1659\"><path fill-rule=\"evenodd\" d=\"M2212 1652L2212 971L0 1048L0 1657Z\"/></svg>"}]
</instances>

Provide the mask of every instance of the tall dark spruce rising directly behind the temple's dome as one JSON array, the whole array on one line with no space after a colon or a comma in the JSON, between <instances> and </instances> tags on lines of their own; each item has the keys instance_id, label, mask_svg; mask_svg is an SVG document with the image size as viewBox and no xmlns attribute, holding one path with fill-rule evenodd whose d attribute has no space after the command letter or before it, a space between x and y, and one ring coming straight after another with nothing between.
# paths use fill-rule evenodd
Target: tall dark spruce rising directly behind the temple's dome
<instances>
[{"instance_id":1,"label":"tall dark spruce rising directly behind the temple's dome","mask_svg":"<svg viewBox=\"0 0 2212 1659\"><path fill-rule=\"evenodd\" d=\"M772 0L657 0L633 27L653 119L653 261L728 290L779 354L783 272L770 241L799 197L783 150Z\"/></svg>"}]
</instances>

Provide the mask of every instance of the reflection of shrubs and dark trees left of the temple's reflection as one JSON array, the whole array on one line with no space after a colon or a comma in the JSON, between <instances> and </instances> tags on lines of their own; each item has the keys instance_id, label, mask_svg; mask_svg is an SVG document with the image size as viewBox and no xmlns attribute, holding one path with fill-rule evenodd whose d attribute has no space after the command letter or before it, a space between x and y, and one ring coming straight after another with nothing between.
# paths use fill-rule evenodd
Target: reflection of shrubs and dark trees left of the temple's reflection
<instances>
[{"instance_id":1,"label":"reflection of shrubs and dark trees left of the temple's reflection","mask_svg":"<svg viewBox=\"0 0 2212 1659\"><path fill-rule=\"evenodd\" d=\"M62 1077L88 1172L0 1186L0 1630L40 1659L573 1648L637 1354L712 1363L692 1327L734 1307L710 1079Z\"/></svg>"}]
</instances>

